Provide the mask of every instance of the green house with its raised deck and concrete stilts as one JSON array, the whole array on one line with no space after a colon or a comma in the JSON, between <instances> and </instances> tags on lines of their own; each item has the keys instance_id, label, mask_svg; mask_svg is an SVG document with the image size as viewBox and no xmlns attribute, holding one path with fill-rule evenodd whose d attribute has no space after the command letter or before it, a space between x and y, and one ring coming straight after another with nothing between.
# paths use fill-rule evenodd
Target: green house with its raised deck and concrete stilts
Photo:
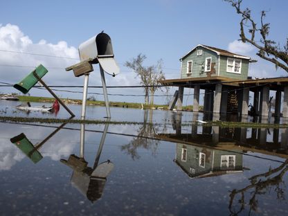
<instances>
[{"instance_id":1,"label":"green house with its raised deck and concrete stilts","mask_svg":"<svg viewBox=\"0 0 288 216\"><path fill-rule=\"evenodd\" d=\"M177 110L181 110L184 88L192 88L193 111L199 111L200 89L203 89L204 113L248 115L249 93L253 92L253 111L268 116L269 94L276 91L274 115L288 118L288 77L252 79L248 76L251 57L199 44L180 61L181 78L161 81L178 87L169 109L177 105Z\"/></svg>"}]
</instances>

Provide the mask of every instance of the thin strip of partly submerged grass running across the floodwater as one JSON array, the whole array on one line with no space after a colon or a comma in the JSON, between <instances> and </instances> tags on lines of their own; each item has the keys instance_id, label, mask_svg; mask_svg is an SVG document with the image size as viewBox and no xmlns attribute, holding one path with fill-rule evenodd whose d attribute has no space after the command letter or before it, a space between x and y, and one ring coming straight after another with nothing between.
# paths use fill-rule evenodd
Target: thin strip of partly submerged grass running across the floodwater
<instances>
[{"instance_id":1,"label":"thin strip of partly submerged grass running across the floodwater","mask_svg":"<svg viewBox=\"0 0 288 216\"><path fill-rule=\"evenodd\" d=\"M110 125L153 125L161 126L163 124L157 123L142 123L142 122L133 122L133 121L114 121L114 120L80 120L80 119L64 119L64 118L27 118L27 117L12 117L12 116L0 116L0 120L4 122L21 122L21 123L70 123L70 124L110 124ZM244 128L288 128L288 124L269 124L269 123L238 123L238 122L222 122L222 121L210 121L208 123L197 123L191 122L182 124L182 126L191 126L191 125L203 125L206 127L219 126L219 127L244 127Z\"/></svg>"}]
</instances>

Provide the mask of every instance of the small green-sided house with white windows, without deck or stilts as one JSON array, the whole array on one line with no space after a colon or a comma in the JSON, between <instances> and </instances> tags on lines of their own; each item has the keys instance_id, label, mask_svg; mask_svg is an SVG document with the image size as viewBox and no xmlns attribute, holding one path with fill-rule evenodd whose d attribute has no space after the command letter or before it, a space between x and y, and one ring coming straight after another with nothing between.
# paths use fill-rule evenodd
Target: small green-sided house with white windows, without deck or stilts
<instances>
[{"instance_id":1,"label":"small green-sided house with white windows, without deck or stilts","mask_svg":"<svg viewBox=\"0 0 288 216\"><path fill-rule=\"evenodd\" d=\"M220 76L246 80L250 60L244 55L199 44L181 57L181 78Z\"/></svg>"}]
</instances>

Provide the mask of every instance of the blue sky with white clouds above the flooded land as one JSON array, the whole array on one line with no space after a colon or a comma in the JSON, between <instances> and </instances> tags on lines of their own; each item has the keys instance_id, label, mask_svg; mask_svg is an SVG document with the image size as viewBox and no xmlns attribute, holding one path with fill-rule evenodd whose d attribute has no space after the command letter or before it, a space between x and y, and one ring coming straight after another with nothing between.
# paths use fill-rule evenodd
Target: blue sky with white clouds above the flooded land
<instances>
[{"instance_id":1,"label":"blue sky with white clouds above the flooded land","mask_svg":"<svg viewBox=\"0 0 288 216\"><path fill-rule=\"evenodd\" d=\"M238 41L240 16L222 0L146 0L146 1L3 1L0 0L0 82L15 84L30 71L43 64L48 85L82 85L67 66L79 62L78 46L102 30L112 40L120 74L106 74L107 86L138 85L136 74L124 66L139 53L146 55L145 65L163 60L166 79L180 77L180 57L197 44L205 44L248 55L258 62L249 67L249 75L257 78L287 76L270 62L260 60L257 50ZM287 0L243 0L252 10L255 21L267 11L265 21L271 24L269 38L283 45L287 38ZM37 55L28 55L33 53ZM89 75L89 86L100 86L98 64ZM82 91L82 89L66 89ZM188 93L188 90L185 90ZM0 87L1 93L16 89ZM143 89L108 89L120 94L141 94ZM31 96L49 96L33 89ZM82 93L56 92L62 98L82 98ZM102 93L102 89L89 89ZM170 89L170 94L174 89ZM159 91L156 94L161 94ZM163 94L163 93L162 93ZM93 95L102 100L101 95ZM111 101L144 102L143 97L109 96ZM165 102L156 97L156 103ZM192 98L190 98L192 102Z\"/></svg>"}]
</instances>

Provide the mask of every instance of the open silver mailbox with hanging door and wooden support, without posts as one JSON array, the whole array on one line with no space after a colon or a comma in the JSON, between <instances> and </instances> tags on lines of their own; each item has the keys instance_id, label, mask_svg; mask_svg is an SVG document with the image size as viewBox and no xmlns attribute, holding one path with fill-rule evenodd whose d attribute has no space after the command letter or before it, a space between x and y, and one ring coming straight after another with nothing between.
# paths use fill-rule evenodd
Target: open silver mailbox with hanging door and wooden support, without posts
<instances>
[{"instance_id":1,"label":"open silver mailbox with hanging door and wooden support, without posts","mask_svg":"<svg viewBox=\"0 0 288 216\"><path fill-rule=\"evenodd\" d=\"M66 68L66 71L73 69L76 77L93 71L91 64L98 63L110 75L115 76L119 73L119 66L114 60L111 38L106 33L100 33L83 42L78 51L81 62Z\"/></svg>"}]
</instances>

